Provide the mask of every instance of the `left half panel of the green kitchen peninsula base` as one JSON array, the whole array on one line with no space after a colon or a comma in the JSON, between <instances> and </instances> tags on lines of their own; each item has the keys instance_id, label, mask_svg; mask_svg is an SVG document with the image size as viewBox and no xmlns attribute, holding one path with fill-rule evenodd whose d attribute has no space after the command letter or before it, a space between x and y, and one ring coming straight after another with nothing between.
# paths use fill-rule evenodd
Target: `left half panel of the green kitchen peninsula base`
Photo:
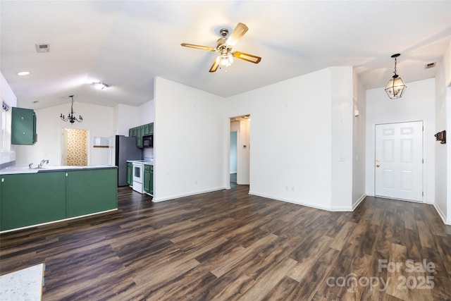
<instances>
[{"instance_id":1,"label":"left half panel of the green kitchen peninsula base","mask_svg":"<svg viewBox=\"0 0 451 301\"><path fill-rule=\"evenodd\" d=\"M66 173L0 176L0 230L66 218Z\"/></svg>"}]
</instances>

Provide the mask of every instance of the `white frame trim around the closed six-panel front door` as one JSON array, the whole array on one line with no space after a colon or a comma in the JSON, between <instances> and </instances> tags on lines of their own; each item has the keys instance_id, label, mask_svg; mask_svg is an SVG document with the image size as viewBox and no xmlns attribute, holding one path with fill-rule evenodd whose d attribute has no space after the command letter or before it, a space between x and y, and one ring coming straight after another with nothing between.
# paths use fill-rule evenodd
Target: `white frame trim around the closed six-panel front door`
<instances>
[{"instance_id":1,"label":"white frame trim around the closed six-panel front door","mask_svg":"<svg viewBox=\"0 0 451 301\"><path fill-rule=\"evenodd\" d=\"M389 125L389 124L397 124L397 123L411 123L411 122L421 122L423 125L423 130L422 130L422 135L421 135L421 152L423 154L423 164L421 165L421 174L422 174L422 180L421 180L421 185L422 185L422 197L421 197L421 201L416 201L413 199L398 199L395 197L383 197L383 196L378 196L376 195L376 139L377 139L377 135L376 135L376 126L377 125ZM426 171L427 171L427 156L426 156L426 143L425 143L425 135L426 135L426 121L424 120L413 120L413 121L396 121L396 122L386 122L386 123L375 123L374 127L373 127L373 158L372 158L372 164L373 164L373 195L375 197L381 197L381 198L386 198L386 199L397 199L397 200L401 200L401 201L406 201L406 202L422 202L422 203L426 203Z\"/></svg>"}]
</instances>

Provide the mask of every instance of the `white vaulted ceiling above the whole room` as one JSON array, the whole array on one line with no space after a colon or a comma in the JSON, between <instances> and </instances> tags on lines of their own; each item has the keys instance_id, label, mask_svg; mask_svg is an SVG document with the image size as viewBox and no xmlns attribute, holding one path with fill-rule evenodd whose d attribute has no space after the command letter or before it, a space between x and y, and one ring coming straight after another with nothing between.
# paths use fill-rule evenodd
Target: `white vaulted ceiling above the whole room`
<instances>
[{"instance_id":1,"label":"white vaulted ceiling above the whole room","mask_svg":"<svg viewBox=\"0 0 451 301\"><path fill-rule=\"evenodd\" d=\"M137 106L160 76L229 97L329 66L353 66L366 88L433 78L451 39L451 1L9 1L0 3L0 69L18 106ZM209 73L221 28L261 56ZM49 44L37 53L36 44ZM19 76L27 70L30 75ZM92 82L105 82L107 90Z\"/></svg>"}]
</instances>

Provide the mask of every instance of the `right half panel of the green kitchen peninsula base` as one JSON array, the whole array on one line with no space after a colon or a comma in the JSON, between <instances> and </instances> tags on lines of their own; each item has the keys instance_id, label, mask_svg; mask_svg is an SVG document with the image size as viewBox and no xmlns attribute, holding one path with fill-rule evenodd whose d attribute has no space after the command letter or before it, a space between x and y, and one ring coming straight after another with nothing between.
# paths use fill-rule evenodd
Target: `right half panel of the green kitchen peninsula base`
<instances>
[{"instance_id":1,"label":"right half panel of the green kitchen peninsula base","mask_svg":"<svg viewBox=\"0 0 451 301\"><path fill-rule=\"evenodd\" d=\"M118 207L116 168L67 171L67 175L67 218Z\"/></svg>"}]
</instances>

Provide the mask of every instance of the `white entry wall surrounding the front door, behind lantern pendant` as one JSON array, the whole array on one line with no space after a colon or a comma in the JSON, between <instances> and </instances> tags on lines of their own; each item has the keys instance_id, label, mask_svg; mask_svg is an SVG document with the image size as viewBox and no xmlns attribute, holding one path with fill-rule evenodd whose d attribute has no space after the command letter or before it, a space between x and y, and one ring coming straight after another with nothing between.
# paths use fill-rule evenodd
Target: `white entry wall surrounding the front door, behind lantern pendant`
<instances>
[{"instance_id":1,"label":"white entry wall surrounding the front door, behind lantern pendant","mask_svg":"<svg viewBox=\"0 0 451 301\"><path fill-rule=\"evenodd\" d=\"M384 88L366 91L366 195L374 195L374 130L376 124L424 121L424 202L435 199L435 80L407 82L400 99Z\"/></svg>"}]
</instances>

